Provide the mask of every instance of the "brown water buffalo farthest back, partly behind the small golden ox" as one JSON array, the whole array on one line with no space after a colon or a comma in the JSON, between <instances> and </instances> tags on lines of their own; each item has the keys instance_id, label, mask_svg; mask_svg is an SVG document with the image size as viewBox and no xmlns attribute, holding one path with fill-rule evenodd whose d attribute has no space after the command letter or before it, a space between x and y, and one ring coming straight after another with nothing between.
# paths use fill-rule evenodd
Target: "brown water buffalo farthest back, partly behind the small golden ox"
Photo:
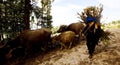
<instances>
[{"instance_id":1,"label":"brown water buffalo farthest back, partly behind the small golden ox","mask_svg":"<svg viewBox=\"0 0 120 65\"><path fill-rule=\"evenodd\" d=\"M57 31L59 32L64 32L64 31L73 31L75 32L76 36L78 37L77 41L79 41L80 36L81 36L81 31L84 28L84 24L77 22L77 23L71 23L70 25L62 25L60 26L59 30Z\"/></svg>"}]
</instances>

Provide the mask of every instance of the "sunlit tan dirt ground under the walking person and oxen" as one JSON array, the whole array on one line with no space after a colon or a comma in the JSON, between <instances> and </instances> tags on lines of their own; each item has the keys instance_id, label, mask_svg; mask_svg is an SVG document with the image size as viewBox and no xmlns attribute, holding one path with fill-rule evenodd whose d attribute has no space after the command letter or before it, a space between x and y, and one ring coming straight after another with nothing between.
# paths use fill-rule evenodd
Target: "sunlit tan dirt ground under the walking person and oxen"
<instances>
[{"instance_id":1,"label":"sunlit tan dirt ground under the walking person and oxen","mask_svg":"<svg viewBox=\"0 0 120 65\"><path fill-rule=\"evenodd\" d=\"M107 46L99 42L92 59L88 58L86 41L71 49L54 50L25 60L21 65L120 65L120 29L109 29L112 34Z\"/></svg>"}]
</instances>

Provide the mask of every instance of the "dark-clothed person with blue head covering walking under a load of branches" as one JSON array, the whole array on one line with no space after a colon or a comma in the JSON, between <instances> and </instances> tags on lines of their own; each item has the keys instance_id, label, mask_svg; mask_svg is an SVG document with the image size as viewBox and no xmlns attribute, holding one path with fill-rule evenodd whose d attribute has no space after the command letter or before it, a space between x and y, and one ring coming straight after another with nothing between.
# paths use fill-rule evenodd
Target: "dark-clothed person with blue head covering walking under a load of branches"
<instances>
[{"instance_id":1,"label":"dark-clothed person with blue head covering walking under a load of branches","mask_svg":"<svg viewBox=\"0 0 120 65\"><path fill-rule=\"evenodd\" d=\"M86 27L82 30L82 34L86 36L87 48L92 58L93 52L95 50L96 44L98 44L100 38L100 25L97 24L97 19L95 17L86 17Z\"/></svg>"}]
</instances>

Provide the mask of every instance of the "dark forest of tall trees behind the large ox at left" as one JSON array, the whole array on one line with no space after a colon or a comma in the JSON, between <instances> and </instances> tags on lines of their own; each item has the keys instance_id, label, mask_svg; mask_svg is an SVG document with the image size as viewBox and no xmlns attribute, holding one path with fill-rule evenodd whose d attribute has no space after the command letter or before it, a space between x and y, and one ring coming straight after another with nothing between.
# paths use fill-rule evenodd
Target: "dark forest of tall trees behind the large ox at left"
<instances>
[{"instance_id":1,"label":"dark forest of tall trees behind the large ox at left","mask_svg":"<svg viewBox=\"0 0 120 65\"><path fill-rule=\"evenodd\" d=\"M52 28L50 15L52 0L0 0L0 40L13 38L22 30L31 29L30 23Z\"/></svg>"}]
</instances>

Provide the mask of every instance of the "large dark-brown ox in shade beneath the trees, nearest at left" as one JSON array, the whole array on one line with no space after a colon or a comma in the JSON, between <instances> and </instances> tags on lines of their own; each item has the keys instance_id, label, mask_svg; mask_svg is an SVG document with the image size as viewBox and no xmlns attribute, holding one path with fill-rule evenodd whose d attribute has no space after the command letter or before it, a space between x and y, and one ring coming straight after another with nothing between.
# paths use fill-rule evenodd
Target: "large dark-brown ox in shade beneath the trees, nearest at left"
<instances>
[{"instance_id":1,"label":"large dark-brown ox in shade beneath the trees, nearest at left","mask_svg":"<svg viewBox=\"0 0 120 65\"><path fill-rule=\"evenodd\" d=\"M20 33L15 39L9 41L7 46L10 48L16 48L23 51L27 51L25 53L34 53L39 50L46 50L48 42L51 40L51 30L48 28L41 28L37 30L25 30ZM22 52L20 51L20 52ZM13 51L14 52L14 51ZM18 51L17 51L18 52ZM14 52L15 53L15 52Z\"/></svg>"}]
</instances>

